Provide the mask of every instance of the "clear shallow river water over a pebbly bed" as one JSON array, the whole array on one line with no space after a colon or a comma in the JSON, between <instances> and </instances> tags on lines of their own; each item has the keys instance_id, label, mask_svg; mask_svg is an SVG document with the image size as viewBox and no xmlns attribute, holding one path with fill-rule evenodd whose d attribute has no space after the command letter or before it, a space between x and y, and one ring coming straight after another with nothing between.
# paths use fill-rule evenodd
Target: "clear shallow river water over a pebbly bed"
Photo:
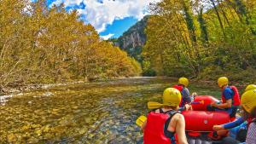
<instances>
[{"instance_id":1,"label":"clear shallow river water over a pebbly bed","mask_svg":"<svg viewBox=\"0 0 256 144\"><path fill-rule=\"evenodd\" d=\"M120 78L10 96L0 105L0 143L143 143L135 124L172 78ZM219 89L190 84L199 95Z\"/></svg>"}]
</instances>

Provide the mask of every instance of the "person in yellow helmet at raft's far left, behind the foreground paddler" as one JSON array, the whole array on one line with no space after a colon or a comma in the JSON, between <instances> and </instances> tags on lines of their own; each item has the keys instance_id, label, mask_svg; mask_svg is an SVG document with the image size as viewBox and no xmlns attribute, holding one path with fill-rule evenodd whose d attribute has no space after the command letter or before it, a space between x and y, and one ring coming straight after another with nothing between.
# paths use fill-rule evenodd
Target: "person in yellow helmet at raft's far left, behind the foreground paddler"
<instances>
[{"instance_id":1,"label":"person in yellow helmet at raft's far left, behind the foreground paddler","mask_svg":"<svg viewBox=\"0 0 256 144\"><path fill-rule=\"evenodd\" d=\"M191 107L191 96L189 95L189 79L188 78L179 78L176 85L173 88L180 91L182 95L182 101L179 104L180 110L190 110Z\"/></svg>"}]
</instances>

